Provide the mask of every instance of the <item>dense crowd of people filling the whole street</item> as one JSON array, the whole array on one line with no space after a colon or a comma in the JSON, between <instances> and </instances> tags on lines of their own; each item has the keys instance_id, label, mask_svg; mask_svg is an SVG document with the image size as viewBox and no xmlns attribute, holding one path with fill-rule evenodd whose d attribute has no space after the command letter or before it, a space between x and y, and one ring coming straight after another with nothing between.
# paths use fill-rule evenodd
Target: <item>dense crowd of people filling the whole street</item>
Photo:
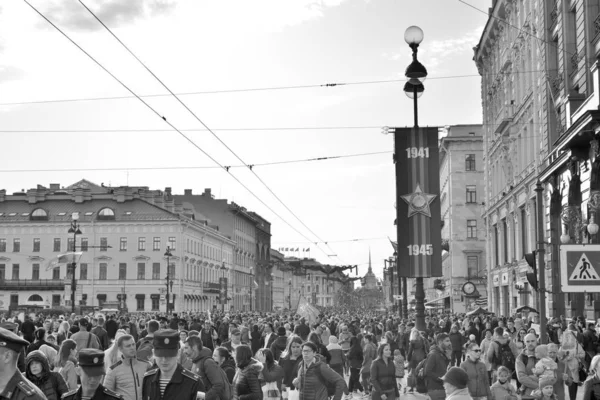
<instances>
[{"instance_id":1,"label":"dense crowd of people filling the whole street","mask_svg":"<svg viewBox=\"0 0 600 400\"><path fill-rule=\"evenodd\" d=\"M413 315L414 317L414 315ZM0 323L0 399L600 399L600 321L322 309L25 315ZM21 396L21 397L19 397ZM568 397L567 397L568 396Z\"/></svg>"}]
</instances>

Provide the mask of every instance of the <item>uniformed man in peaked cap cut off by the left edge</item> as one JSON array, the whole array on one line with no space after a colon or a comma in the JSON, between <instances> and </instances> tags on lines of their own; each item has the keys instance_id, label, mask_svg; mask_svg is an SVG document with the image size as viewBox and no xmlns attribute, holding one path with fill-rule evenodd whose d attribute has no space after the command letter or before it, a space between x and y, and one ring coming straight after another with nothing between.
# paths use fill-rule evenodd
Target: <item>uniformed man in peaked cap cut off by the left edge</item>
<instances>
[{"instance_id":1,"label":"uniformed man in peaked cap cut off by the left edge","mask_svg":"<svg viewBox=\"0 0 600 400\"><path fill-rule=\"evenodd\" d=\"M27 340L0 328L0 400L46 400L42 391L17 368L19 353Z\"/></svg>"}]
</instances>

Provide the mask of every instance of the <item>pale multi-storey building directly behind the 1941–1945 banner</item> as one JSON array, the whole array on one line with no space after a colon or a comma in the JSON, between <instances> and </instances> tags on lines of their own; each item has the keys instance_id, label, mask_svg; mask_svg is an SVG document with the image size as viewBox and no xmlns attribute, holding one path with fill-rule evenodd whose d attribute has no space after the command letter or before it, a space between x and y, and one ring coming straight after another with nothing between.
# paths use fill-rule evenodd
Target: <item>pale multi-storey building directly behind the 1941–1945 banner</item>
<instances>
[{"instance_id":1,"label":"pale multi-storey building directly behind the 1941\u20131945 banner","mask_svg":"<svg viewBox=\"0 0 600 400\"><path fill-rule=\"evenodd\" d=\"M463 313L487 298L483 127L456 125L446 133L440 140L443 278L428 279L426 298L430 307ZM465 282L477 291L463 293Z\"/></svg>"}]
</instances>

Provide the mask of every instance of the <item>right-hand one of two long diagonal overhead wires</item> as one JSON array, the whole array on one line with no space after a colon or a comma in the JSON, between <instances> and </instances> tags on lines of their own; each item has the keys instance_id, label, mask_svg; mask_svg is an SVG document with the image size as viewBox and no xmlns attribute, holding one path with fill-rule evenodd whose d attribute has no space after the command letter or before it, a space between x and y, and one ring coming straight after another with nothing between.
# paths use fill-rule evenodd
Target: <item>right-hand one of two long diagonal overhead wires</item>
<instances>
[{"instance_id":1,"label":"right-hand one of two long diagonal overhead wires","mask_svg":"<svg viewBox=\"0 0 600 400\"><path fill-rule=\"evenodd\" d=\"M250 170L250 172L252 172L252 174L256 177L256 179L258 179L258 181L269 191L269 193L271 193L271 195L273 197L275 197L277 199L277 201L291 214L294 216L294 218L296 218L296 220L298 222L300 222L300 224L302 226L304 226L304 228L310 232L313 236L315 236L319 241L324 242L323 239L321 239L319 237L319 235L317 235L312 229L310 229L308 227L308 225L306 225L306 223L304 223L304 221L294 212L292 211L292 209L290 207L288 207L288 205L273 191L273 189L271 189L271 187L269 185L267 185L267 183L256 173L256 171L254 171L252 165L248 164L247 162L245 162L244 160L242 160L242 158L231 148L229 147L229 145L227 143L225 143L220 137L219 135L217 135L215 132L213 132L208 125L206 125L204 123L204 121L202 121L202 119L200 119L200 117L198 117L198 115L192 111L187 104L185 104L180 98L179 96L177 96L142 60L140 60L140 58L135 55L135 53L125 44L123 43L123 41L121 41L121 39L119 39L119 37L117 37L117 35L115 35L115 33L104 23L102 22L102 20L100 18L98 18L98 16L92 11L90 10L90 8L88 6L85 5L85 3L82 0L78 0L79 3L96 19L96 21L98 21L103 27L104 29L106 29L108 31L108 33L110 33L110 35L117 41L119 42L119 44L121 46L123 46L123 48L125 50L127 50L127 52L137 60L138 63L140 63L140 65L142 67L144 67L144 69L154 77L154 79L156 79L158 81L158 83L160 83L162 85L162 87L165 88L165 90L167 90L178 102L179 104L181 104L183 106L183 108L185 108L195 119L196 121L198 121L204 128L206 128L206 130L208 130L214 137L215 139L217 139L219 141L219 143L221 143L231 154L233 154L233 156L235 156L235 158L237 158L242 164L244 165L248 165L248 169ZM329 245L326 244L326 246L329 248L329 250L335 254L335 251L329 247ZM338 257L336 255L336 258L338 260L340 260L340 262L343 263L343 260Z\"/></svg>"}]
</instances>

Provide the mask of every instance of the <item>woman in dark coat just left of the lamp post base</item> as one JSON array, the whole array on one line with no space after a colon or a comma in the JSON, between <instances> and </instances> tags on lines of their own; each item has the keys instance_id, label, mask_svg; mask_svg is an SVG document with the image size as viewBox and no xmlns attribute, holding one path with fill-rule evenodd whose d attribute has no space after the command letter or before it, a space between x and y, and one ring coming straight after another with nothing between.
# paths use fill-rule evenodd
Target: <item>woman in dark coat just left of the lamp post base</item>
<instances>
[{"instance_id":1,"label":"woman in dark coat just left of the lamp post base","mask_svg":"<svg viewBox=\"0 0 600 400\"><path fill-rule=\"evenodd\" d=\"M371 364L372 400L395 400L400 396L392 354L389 343L379 345L377 358Z\"/></svg>"}]
</instances>

